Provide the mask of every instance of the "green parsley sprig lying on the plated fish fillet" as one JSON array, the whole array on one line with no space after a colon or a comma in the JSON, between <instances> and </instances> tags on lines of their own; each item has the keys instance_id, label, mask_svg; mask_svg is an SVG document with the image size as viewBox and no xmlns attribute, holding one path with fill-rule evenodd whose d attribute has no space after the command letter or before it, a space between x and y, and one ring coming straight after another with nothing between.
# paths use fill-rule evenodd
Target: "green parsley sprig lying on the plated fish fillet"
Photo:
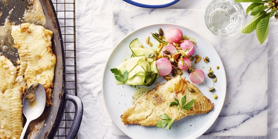
<instances>
[{"instance_id":1,"label":"green parsley sprig lying on the plated fish fillet","mask_svg":"<svg viewBox=\"0 0 278 139\"><path fill-rule=\"evenodd\" d=\"M182 112L182 109L185 109L185 110L189 110L192 108L192 105L193 103L196 101L195 99L192 99L189 103L186 103L186 95L182 97L182 107L180 108L180 102L178 99L174 98L176 102L171 102L169 107L172 107L172 106L175 106L177 105L177 109L178 111L180 112L179 115L176 117L178 118L180 116L181 113L183 113L184 115L187 116L187 114L185 114L184 112ZM167 129L171 129L172 125L173 125L173 122L176 118L172 119L170 118L167 114L163 114L161 116L159 116L159 118L161 118L162 120L158 121L157 124L156 124L156 127L161 127L161 128L165 128L165 130Z\"/></svg>"}]
</instances>

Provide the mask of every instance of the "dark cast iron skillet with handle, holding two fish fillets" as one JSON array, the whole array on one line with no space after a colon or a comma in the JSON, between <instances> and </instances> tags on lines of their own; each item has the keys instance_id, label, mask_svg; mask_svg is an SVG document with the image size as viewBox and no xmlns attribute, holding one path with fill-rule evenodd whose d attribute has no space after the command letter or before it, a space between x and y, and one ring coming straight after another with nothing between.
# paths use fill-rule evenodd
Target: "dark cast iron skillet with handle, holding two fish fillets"
<instances>
[{"instance_id":1,"label":"dark cast iron skillet with handle, holding two fish fillets","mask_svg":"<svg viewBox=\"0 0 278 139\"><path fill-rule=\"evenodd\" d=\"M65 106L67 101L73 102L75 106L74 119L72 121L71 128L67 134L67 139L74 139L79 130L82 115L83 104L81 100L74 95L67 94L65 90L65 54L62 40L62 34L58 23L58 18L55 13L55 9L51 0L40 0L43 12L46 18L45 28L53 32L52 37L52 49L53 53L57 56L57 64L54 72L54 88L52 91L52 106L47 107L42 116L29 125L29 132L25 135L29 138L43 139L54 138L58 127L63 118ZM19 17L23 17L24 9L27 8L28 1L11 0L9 6L3 7L3 15L0 17L0 23L4 23L4 19L8 16L8 12L15 6L14 13L10 16L10 20L16 24L20 24ZM0 3L1 4L1 3ZM5 16L6 15L6 16ZM12 50L14 53L16 49ZM5 54L12 62L18 57ZM37 126L37 122L42 123L41 126ZM32 125L33 124L33 125ZM37 131L36 131L37 130Z\"/></svg>"}]
</instances>

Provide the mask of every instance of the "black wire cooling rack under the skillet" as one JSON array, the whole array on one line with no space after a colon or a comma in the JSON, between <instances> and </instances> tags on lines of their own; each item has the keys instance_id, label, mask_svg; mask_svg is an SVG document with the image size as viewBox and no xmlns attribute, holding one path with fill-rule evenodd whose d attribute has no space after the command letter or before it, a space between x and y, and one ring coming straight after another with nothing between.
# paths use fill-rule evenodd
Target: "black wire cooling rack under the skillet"
<instances>
[{"instance_id":1,"label":"black wire cooling rack under the skillet","mask_svg":"<svg viewBox=\"0 0 278 139\"><path fill-rule=\"evenodd\" d=\"M52 0L60 24L65 50L66 90L77 96L76 83L76 41L75 41L75 0ZM74 105L67 102L65 113L55 139L65 139L74 118ZM78 137L76 137L77 139Z\"/></svg>"}]
</instances>

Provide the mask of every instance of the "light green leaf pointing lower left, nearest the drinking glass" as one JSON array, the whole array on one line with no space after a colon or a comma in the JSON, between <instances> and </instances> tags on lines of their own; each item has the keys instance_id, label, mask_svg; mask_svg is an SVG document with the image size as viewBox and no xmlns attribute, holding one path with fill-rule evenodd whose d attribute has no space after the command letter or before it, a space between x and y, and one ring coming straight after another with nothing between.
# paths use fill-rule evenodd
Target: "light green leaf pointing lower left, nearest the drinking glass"
<instances>
[{"instance_id":1,"label":"light green leaf pointing lower left, nearest the drinking glass","mask_svg":"<svg viewBox=\"0 0 278 139\"><path fill-rule=\"evenodd\" d=\"M264 17L266 17L266 11L261 11L261 12L257 13L250 21L248 21L248 23L246 23L242 27L242 30L240 32L242 32L242 33L251 33L251 32L253 32L256 29L257 24L259 23L259 21L261 19L263 19Z\"/></svg>"}]
</instances>

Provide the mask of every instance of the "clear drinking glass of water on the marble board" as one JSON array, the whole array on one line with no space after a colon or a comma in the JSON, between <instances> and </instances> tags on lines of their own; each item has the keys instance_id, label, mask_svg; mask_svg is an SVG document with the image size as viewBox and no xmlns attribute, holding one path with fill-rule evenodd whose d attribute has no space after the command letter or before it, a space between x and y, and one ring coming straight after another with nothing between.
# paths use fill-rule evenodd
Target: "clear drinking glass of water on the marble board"
<instances>
[{"instance_id":1,"label":"clear drinking glass of water on the marble board","mask_svg":"<svg viewBox=\"0 0 278 139\"><path fill-rule=\"evenodd\" d=\"M233 0L213 0L205 10L205 23L215 35L228 37L236 34L244 24L244 9Z\"/></svg>"}]
</instances>

